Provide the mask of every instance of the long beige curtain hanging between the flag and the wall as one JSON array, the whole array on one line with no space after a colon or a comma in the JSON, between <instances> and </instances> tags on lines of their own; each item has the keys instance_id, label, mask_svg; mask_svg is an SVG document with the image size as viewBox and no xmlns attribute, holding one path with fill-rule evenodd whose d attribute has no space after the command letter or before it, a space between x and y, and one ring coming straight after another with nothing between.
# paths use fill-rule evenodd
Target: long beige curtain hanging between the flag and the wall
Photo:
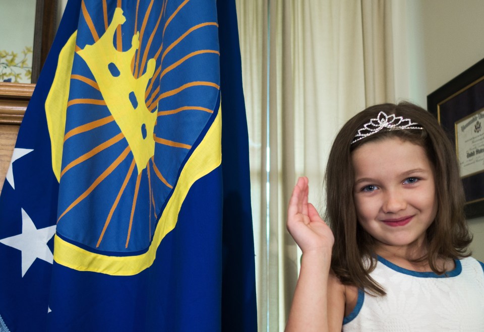
<instances>
[{"instance_id":1,"label":"long beige curtain hanging between the flag and the wall","mask_svg":"<svg viewBox=\"0 0 484 332\"><path fill-rule=\"evenodd\" d=\"M297 176L322 182L339 127L394 102L388 0L236 0L250 139L260 331L283 330L300 253L286 231Z\"/></svg>"}]
</instances>

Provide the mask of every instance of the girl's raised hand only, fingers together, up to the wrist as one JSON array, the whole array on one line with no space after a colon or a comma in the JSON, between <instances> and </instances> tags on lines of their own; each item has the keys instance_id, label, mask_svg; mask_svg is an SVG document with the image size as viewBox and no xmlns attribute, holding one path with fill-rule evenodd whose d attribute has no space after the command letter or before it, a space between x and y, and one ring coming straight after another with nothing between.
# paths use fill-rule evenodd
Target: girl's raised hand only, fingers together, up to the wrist
<instances>
[{"instance_id":1,"label":"girl's raised hand only, fingers together, up to the wrist","mask_svg":"<svg viewBox=\"0 0 484 332\"><path fill-rule=\"evenodd\" d=\"M302 252L331 250L334 236L316 208L308 203L308 178L297 180L287 209L287 230Z\"/></svg>"}]
</instances>

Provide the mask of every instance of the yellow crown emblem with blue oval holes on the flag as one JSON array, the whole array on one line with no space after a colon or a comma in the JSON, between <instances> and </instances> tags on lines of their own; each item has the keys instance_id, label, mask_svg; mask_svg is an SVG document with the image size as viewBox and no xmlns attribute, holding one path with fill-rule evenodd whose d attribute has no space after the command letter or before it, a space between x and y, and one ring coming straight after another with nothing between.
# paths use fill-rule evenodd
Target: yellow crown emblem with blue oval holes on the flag
<instances>
[{"instance_id":1,"label":"yellow crown emblem with blue oval holes on the flag","mask_svg":"<svg viewBox=\"0 0 484 332\"><path fill-rule=\"evenodd\" d=\"M94 75L106 106L128 141L140 174L155 151L153 131L157 113L151 113L145 104L145 91L155 71L155 60L148 60L141 77L133 76L131 63L139 48L139 32L125 52L116 50L112 42L117 26L125 21L123 10L116 8L102 37L77 53Z\"/></svg>"}]
</instances>

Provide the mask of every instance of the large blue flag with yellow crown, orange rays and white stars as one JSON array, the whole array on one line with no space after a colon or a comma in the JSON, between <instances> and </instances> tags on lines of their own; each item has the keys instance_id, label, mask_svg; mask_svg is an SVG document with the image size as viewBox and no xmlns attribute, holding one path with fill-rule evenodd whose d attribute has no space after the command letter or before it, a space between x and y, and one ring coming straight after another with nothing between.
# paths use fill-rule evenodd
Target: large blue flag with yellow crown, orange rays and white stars
<instances>
[{"instance_id":1,"label":"large blue flag with yellow crown, orange rays and white stars","mask_svg":"<svg viewBox=\"0 0 484 332\"><path fill-rule=\"evenodd\" d=\"M70 0L0 196L0 331L257 330L233 1Z\"/></svg>"}]
</instances>

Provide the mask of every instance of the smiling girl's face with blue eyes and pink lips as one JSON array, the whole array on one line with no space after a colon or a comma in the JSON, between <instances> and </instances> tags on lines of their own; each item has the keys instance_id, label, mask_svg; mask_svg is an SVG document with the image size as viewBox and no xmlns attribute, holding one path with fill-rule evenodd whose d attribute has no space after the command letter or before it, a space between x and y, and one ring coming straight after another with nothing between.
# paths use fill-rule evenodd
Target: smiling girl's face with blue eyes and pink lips
<instances>
[{"instance_id":1,"label":"smiling girl's face with blue eyes and pink lips","mask_svg":"<svg viewBox=\"0 0 484 332\"><path fill-rule=\"evenodd\" d=\"M358 222L381 246L420 247L437 213L435 180L425 150L399 138L352 153Z\"/></svg>"}]
</instances>

